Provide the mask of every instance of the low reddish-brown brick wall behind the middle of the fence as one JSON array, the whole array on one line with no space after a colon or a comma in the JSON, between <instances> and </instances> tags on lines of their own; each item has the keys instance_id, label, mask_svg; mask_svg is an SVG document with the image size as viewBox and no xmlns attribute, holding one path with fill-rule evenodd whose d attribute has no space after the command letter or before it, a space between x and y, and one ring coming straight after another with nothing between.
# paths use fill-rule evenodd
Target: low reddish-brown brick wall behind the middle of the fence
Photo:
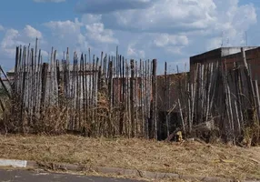
<instances>
[{"instance_id":1,"label":"low reddish-brown brick wall behind the middle of the fence","mask_svg":"<svg viewBox=\"0 0 260 182\"><path fill-rule=\"evenodd\" d=\"M133 80L134 84L134 102L136 106L142 105L142 98L149 99L152 101L153 99L153 90L151 80L147 80L145 86L145 79L141 79L141 77L137 77L137 83L135 79ZM184 93L188 82L188 74L171 74L165 76L157 76L157 109L159 111L167 111L173 108L178 102L178 98L184 97L180 96L180 93ZM127 89L130 85L130 78L128 81L125 78L125 94L130 93L130 90ZM114 78L113 86L114 86L114 97L115 102L123 102L123 78ZM143 90L142 90L143 87ZM174 111L179 111L179 107L176 106Z\"/></svg>"}]
</instances>

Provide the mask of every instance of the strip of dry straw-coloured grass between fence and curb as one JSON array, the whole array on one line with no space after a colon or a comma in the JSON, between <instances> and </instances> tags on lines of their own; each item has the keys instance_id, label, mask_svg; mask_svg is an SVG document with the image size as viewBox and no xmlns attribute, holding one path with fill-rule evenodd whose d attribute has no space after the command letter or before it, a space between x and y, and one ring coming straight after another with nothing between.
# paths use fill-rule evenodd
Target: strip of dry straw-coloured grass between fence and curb
<instances>
[{"instance_id":1,"label":"strip of dry straw-coloured grass between fence and curb","mask_svg":"<svg viewBox=\"0 0 260 182\"><path fill-rule=\"evenodd\" d=\"M260 147L81 136L1 136L0 157L260 179Z\"/></svg>"}]
</instances>

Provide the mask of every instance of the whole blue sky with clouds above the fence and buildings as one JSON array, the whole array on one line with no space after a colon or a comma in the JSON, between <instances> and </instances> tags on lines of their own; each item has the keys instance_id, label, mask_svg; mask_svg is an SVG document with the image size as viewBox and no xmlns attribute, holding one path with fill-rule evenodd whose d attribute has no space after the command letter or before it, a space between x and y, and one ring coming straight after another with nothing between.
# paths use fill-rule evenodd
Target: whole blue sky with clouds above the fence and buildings
<instances>
[{"instance_id":1,"label":"whole blue sky with clouds above the fence and buildings","mask_svg":"<svg viewBox=\"0 0 260 182\"><path fill-rule=\"evenodd\" d=\"M101 51L127 58L157 58L182 70L189 56L219 47L259 45L259 0L2 0L0 65L15 64L15 46L34 44L47 61L59 55ZM187 66L188 68L188 66Z\"/></svg>"}]
</instances>

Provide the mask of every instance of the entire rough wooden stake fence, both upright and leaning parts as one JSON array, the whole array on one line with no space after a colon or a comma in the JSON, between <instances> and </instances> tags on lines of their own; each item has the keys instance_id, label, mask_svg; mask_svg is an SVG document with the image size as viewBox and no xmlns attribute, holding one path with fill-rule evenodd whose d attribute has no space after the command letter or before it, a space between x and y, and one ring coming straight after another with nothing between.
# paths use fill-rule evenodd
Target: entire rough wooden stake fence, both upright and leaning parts
<instances>
[{"instance_id":1,"label":"entire rough wooden stake fence, both upright and leaning parts","mask_svg":"<svg viewBox=\"0 0 260 182\"><path fill-rule=\"evenodd\" d=\"M257 128L260 117L257 80L250 76L244 50L242 55L232 69L219 60L168 75L165 63L165 75L157 76L156 59L126 60L117 51L97 57L89 50L87 55L74 53L71 62L69 50L57 60L52 49L44 63L37 46L19 46L5 127L165 139L177 127L191 136L205 125L235 140L245 136L246 128ZM259 138L259 133L250 135Z\"/></svg>"}]
</instances>

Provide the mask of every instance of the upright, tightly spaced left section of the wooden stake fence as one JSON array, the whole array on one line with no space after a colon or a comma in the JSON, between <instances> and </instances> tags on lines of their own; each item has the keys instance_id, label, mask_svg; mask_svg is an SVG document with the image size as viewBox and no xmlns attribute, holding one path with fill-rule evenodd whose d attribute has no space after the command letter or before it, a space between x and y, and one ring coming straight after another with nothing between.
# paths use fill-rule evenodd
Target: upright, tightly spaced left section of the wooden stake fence
<instances>
[{"instance_id":1,"label":"upright, tightly spaced left section of the wooden stake fence","mask_svg":"<svg viewBox=\"0 0 260 182\"><path fill-rule=\"evenodd\" d=\"M37 47L20 46L8 123L19 132L156 137L155 89L156 60L129 61L117 53L99 58L89 51L70 62L68 50L62 60L52 50L43 63Z\"/></svg>"}]
</instances>

